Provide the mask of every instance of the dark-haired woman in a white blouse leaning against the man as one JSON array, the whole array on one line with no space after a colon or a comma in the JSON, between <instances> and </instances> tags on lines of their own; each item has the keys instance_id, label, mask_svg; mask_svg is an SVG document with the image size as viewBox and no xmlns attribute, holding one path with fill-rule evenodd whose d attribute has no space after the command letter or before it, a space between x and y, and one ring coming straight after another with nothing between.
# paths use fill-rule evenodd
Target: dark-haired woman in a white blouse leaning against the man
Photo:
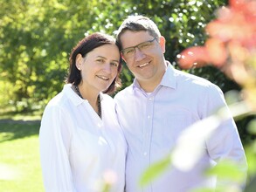
<instances>
[{"instance_id":1,"label":"dark-haired woman in a white blouse leaning against the man","mask_svg":"<svg viewBox=\"0 0 256 192\"><path fill-rule=\"evenodd\" d=\"M94 33L70 55L66 85L45 107L39 141L46 191L124 190L126 142L114 112L120 82L114 38Z\"/></svg>"}]
</instances>

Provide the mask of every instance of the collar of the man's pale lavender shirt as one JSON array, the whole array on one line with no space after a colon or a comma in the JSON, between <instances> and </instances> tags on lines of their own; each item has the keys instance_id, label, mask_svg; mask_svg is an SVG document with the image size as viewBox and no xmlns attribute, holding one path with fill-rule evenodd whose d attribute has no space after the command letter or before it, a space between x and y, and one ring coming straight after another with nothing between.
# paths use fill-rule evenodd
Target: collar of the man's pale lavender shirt
<instances>
[{"instance_id":1,"label":"collar of the man's pale lavender shirt","mask_svg":"<svg viewBox=\"0 0 256 192\"><path fill-rule=\"evenodd\" d=\"M174 72L174 67L170 65L169 61L165 61L167 64L167 69L163 74L163 79L160 82L160 86L167 86L173 89L176 89L176 76ZM134 79L133 83L133 89L138 88L142 90L142 87L140 86L139 82L137 79Z\"/></svg>"}]
</instances>

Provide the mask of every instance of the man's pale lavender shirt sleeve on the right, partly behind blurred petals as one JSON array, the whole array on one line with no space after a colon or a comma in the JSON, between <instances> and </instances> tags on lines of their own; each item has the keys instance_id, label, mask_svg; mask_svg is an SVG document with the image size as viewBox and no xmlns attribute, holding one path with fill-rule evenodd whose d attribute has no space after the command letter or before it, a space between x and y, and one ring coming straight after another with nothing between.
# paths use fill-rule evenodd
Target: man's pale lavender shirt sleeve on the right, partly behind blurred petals
<instances>
[{"instance_id":1,"label":"man's pale lavender shirt sleeve on the right, partly behind blurred petals","mask_svg":"<svg viewBox=\"0 0 256 192\"><path fill-rule=\"evenodd\" d=\"M217 163L220 161L232 161L238 166L240 173L245 175L246 181L246 154L240 141L238 128L232 118L232 113L226 105L225 97L218 86L211 86L206 96L205 116L223 108L228 118L221 121L215 132L206 140L206 147L211 159ZM205 127L207 128L207 127ZM218 181L220 184L220 181ZM244 185L243 183L242 185Z\"/></svg>"}]
</instances>

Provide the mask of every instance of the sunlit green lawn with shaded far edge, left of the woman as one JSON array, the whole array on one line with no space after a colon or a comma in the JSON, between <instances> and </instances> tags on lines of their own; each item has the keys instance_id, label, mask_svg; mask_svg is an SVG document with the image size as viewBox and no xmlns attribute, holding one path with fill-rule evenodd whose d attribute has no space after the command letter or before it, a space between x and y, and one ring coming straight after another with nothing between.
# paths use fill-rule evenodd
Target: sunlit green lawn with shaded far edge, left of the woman
<instances>
[{"instance_id":1,"label":"sunlit green lawn with shaded far edge, left of the woman","mask_svg":"<svg viewBox=\"0 0 256 192\"><path fill-rule=\"evenodd\" d=\"M0 191L44 191L38 120L0 120Z\"/></svg>"}]
</instances>

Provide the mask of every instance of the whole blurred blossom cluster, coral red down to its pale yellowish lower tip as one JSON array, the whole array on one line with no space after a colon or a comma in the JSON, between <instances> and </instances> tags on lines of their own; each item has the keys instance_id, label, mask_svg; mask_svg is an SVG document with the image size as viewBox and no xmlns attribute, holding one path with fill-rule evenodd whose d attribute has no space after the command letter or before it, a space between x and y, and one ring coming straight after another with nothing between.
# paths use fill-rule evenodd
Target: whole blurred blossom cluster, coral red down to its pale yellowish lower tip
<instances>
[{"instance_id":1,"label":"whole blurred blossom cluster, coral red down to its pale yellowish lower tip","mask_svg":"<svg viewBox=\"0 0 256 192\"><path fill-rule=\"evenodd\" d=\"M204 46L177 55L183 69L215 65L243 87L246 100L256 111L256 1L230 0L206 26Z\"/></svg>"}]
</instances>

